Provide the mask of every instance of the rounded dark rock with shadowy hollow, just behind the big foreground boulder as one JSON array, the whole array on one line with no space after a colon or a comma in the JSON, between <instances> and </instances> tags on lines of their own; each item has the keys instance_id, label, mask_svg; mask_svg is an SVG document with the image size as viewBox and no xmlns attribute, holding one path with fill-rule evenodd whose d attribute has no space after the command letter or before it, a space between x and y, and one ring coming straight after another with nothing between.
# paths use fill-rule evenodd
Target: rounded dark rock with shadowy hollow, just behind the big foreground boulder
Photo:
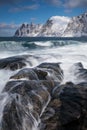
<instances>
[{"instance_id":1,"label":"rounded dark rock with shadowy hollow, just behind the big foreground boulder","mask_svg":"<svg viewBox=\"0 0 87 130\"><path fill-rule=\"evenodd\" d=\"M47 72L42 69L24 68L24 69L19 70L17 74L11 76L10 79L20 80L22 78L25 78L26 80L37 80L38 83L44 85L51 94L53 88L55 87L55 82L51 78L46 79L46 77L47 77ZM58 82L57 82L57 84L58 84ZM6 87L6 88L8 88L8 87Z\"/></svg>"}]
</instances>

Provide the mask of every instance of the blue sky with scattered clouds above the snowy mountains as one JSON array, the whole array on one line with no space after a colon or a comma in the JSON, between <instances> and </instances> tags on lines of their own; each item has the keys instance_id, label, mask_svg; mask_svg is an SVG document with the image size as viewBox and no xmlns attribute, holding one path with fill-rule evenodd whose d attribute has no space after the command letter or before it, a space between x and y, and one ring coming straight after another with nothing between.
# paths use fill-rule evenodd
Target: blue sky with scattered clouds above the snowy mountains
<instances>
[{"instance_id":1,"label":"blue sky with scattered clouds above the snowy mountains","mask_svg":"<svg viewBox=\"0 0 87 130\"><path fill-rule=\"evenodd\" d=\"M78 16L87 0L0 0L0 36L13 36L22 23L45 23L51 16Z\"/></svg>"}]
</instances>

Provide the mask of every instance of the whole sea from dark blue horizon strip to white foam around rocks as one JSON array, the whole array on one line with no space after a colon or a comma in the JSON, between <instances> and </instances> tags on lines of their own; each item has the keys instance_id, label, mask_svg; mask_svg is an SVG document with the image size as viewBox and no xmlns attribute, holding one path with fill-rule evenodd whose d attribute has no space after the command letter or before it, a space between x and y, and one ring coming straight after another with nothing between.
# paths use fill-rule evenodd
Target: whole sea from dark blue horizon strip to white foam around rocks
<instances>
[{"instance_id":1,"label":"whole sea from dark blue horizon strip to white foam around rocks","mask_svg":"<svg viewBox=\"0 0 87 130\"><path fill-rule=\"evenodd\" d=\"M75 80L70 70L73 64L78 62L87 69L87 37L0 37L0 59L19 55L32 55L31 65L28 66L30 68L43 62L60 63L64 72L62 83L79 83L79 79ZM74 71L73 68L72 70ZM0 97L9 77L14 73L15 71L11 70L0 70ZM6 96L3 102L0 102L0 120L5 100Z\"/></svg>"}]
</instances>

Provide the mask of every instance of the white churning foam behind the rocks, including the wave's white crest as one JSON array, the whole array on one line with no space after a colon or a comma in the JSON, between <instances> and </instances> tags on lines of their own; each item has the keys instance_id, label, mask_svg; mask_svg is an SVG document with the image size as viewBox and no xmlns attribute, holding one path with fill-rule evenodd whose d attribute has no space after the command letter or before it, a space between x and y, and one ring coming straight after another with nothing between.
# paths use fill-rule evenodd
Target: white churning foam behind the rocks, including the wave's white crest
<instances>
[{"instance_id":1,"label":"white churning foam behind the rocks, including the wave's white crest","mask_svg":"<svg viewBox=\"0 0 87 130\"><path fill-rule=\"evenodd\" d=\"M48 41L44 42L35 42L38 45L46 45L49 46L52 42ZM76 41L75 41L76 43ZM79 44L72 44L66 46L60 46L56 48L48 48L48 49L41 49L41 50L29 50L18 52L14 51L13 53L1 52L1 57L8 57L12 55L21 55L21 54L33 54L35 56L40 56L40 59L35 59L34 57L29 58L32 63L32 67L37 66L42 62L61 62L61 67L64 70L64 82L66 81L74 81L74 77L72 77L71 73L69 72L70 66L72 66L76 62L82 62L85 68L87 68L87 43ZM7 73L5 75L5 73ZM1 86L4 86L5 82L8 81L8 77L11 75L9 71L0 71L0 80ZM2 87L1 87L2 88Z\"/></svg>"}]
</instances>

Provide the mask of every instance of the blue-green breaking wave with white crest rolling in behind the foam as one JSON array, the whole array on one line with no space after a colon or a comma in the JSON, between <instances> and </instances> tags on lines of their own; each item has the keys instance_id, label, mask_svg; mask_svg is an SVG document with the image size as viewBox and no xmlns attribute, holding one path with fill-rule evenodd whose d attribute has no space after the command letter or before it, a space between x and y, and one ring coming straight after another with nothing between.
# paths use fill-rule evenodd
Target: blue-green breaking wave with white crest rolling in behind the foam
<instances>
[{"instance_id":1,"label":"blue-green breaking wave with white crest rolling in behind the foam","mask_svg":"<svg viewBox=\"0 0 87 130\"><path fill-rule=\"evenodd\" d=\"M48 48L55 48L60 46L72 45L72 44L80 44L79 41L35 41L35 42L28 42L28 41L1 41L0 42L0 51L23 51L23 50L34 50L34 49L48 49Z\"/></svg>"}]
</instances>

